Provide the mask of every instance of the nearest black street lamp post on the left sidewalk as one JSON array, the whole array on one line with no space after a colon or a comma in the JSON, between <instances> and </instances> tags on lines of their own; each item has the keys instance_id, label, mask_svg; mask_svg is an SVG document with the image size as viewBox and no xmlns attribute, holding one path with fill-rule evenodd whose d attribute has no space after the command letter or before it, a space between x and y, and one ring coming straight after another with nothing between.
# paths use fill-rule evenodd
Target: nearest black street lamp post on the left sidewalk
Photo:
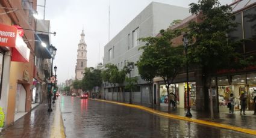
<instances>
[{"instance_id":1,"label":"nearest black street lamp post on the left sidewalk","mask_svg":"<svg viewBox=\"0 0 256 138\"><path fill-rule=\"evenodd\" d=\"M52 64L54 61L54 56L56 55L56 51L57 51L57 49L54 46L52 46L52 44L51 44L49 47L49 52L52 55ZM51 64L51 78L53 77L52 64ZM49 100L48 112L52 112L52 82L51 82L51 89L49 91L49 99L48 100Z\"/></svg>"}]
</instances>

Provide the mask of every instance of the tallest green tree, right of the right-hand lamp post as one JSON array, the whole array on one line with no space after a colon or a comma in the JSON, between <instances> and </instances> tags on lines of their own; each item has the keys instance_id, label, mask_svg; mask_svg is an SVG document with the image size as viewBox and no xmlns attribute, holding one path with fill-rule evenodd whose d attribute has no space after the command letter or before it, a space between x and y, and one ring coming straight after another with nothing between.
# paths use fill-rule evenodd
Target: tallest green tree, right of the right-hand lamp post
<instances>
[{"instance_id":1,"label":"tallest green tree, right of the right-hand lamp post","mask_svg":"<svg viewBox=\"0 0 256 138\"><path fill-rule=\"evenodd\" d=\"M211 88L211 73L223 68L242 68L248 65L249 58L237 52L237 43L228 41L227 34L237 25L231 10L229 5L220 5L217 0L199 0L198 4L190 4L190 12L199 15L202 22L189 23L188 35L192 43L188 56L191 63L202 68L206 110L208 88Z\"/></svg>"}]
</instances>

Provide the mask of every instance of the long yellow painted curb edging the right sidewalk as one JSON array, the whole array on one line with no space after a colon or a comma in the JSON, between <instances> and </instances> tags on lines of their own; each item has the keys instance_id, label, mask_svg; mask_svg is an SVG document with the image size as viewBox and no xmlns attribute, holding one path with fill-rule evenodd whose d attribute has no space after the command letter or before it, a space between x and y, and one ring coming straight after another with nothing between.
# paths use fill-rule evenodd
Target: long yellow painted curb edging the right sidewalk
<instances>
[{"instance_id":1,"label":"long yellow painted curb edging the right sidewalk","mask_svg":"<svg viewBox=\"0 0 256 138\"><path fill-rule=\"evenodd\" d=\"M201 120L201 119L187 118L185 116L179 116L179 115L173 115L173 114L170 114L170 113L160 112L158 110L153 110L153 109L151 109L149 107L145 107L145 106L119 103L119 102L116 102L116 101L107 101L107 100L98 100L98 99L95 99L95 100L104 101L104 102L107 102L107 103L119 104L119 105L122 105L122 106L134 107L134 108L137 108L137 109L145 110L145 111L150 112L150 113L154 113L155 115L165 116L167 118L180 119L180 120L184 120L184 121L195 122L195 123L198 123L198 124L210 125L210 126L213 126L213 127L225 128L225 129L229 129L229 130L239 131L239 132L242 132L242 133L256 135L256 130L251 130L251 129L248 129L248 128L234 127L232 125L226 125L226 124L221 124L221 123L212 122L212 121L205 121L205 120Z\"/></svg>"}]
</instances>

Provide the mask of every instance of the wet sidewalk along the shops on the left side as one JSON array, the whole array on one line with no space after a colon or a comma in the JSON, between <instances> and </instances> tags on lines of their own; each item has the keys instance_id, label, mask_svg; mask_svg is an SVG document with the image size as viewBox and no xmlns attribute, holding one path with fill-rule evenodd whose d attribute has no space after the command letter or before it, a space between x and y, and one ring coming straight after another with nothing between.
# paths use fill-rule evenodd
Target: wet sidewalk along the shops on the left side
<instances>
[{"instance_id":1,"label":"wet sidewalk along the shops on the left side","mask_svg":"<svg viewBox=\"0 0 256 138\"><path fill-rule=\"evenodd\" d=\"M57 107L59 106L59 101L57 100L56 103L52 104L52 112L47 112L47 103L39 104L31 112L15 121L13 125L4 128L0 133L0 137L57 137L56 132L64 134L64 130L62 132L54 131L58 130L54 127L56 126L55 124L58 123L61 127L59 119L62 121L60 107ZM63 137L63 135L58 137Z\"/></svg>"}]
</instances>

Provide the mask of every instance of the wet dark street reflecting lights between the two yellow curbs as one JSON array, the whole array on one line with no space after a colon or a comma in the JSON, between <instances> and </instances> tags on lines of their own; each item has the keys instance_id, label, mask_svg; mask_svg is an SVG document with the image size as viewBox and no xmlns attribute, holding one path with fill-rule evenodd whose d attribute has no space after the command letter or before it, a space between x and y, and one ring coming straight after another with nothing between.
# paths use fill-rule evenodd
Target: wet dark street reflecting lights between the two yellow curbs
<instances>
[{"instance_id":1,"label":"wet dark street reflecting lights between the two yellow curbs","mask_svg":"<svg viewBox=\"0 0 256 138\"><path fill-rule=\"evenodd\" d=\"M255 137L237 131L169 119L143 110L61 96L67 137Z\"/></svg>"}]
</instances>

